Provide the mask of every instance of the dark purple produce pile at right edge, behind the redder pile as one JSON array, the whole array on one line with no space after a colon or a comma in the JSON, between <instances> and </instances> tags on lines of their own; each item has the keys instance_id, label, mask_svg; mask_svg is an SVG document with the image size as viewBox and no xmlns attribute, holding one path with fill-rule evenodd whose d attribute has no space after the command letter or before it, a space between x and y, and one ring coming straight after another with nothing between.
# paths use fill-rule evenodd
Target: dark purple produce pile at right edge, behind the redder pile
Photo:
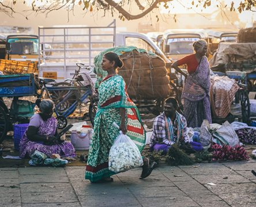
<instances>
[{"instance_id":1,"label":"dark purple produce pile at right edge, behind the redder pile","mask_svg":"<svg viewBox=\"0 0 256 207\"><path fill-rule=\"evenodd\" d=\"M256 144L256 129L243 128L236 130L239 140L243 144Z\"/></svg>"}]
</instances>

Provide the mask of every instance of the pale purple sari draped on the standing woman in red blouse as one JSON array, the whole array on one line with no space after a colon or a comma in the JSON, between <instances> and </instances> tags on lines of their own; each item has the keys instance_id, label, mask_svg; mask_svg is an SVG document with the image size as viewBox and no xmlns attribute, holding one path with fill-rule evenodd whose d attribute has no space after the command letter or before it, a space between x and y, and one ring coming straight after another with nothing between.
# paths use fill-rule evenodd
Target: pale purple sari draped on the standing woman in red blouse
<instances>
[{"instance_id":1,"label":"pale purple sari draped on the standing woman in red blouse","mask_svg":"<svg viewBox=\"0 0 256 207\"><path fill-rule=\"evenodd\" d=\"M206 56L201 58L197 70L187 76L182 91L184 116L188 127L201 127L203 120L212 123L210 113L210 69Z\"/></svg>"}]
</instances>

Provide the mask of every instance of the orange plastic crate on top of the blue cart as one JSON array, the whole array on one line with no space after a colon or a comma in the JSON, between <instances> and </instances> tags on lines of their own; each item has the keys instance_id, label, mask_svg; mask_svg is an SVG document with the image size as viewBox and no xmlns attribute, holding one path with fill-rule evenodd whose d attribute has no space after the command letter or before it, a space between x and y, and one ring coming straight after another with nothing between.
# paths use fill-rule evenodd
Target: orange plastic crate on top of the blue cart
<instances>
[{"instance_id":1,"label":"orange plastic crate on top of the blue cart","mask_svg":"<svg viewBox=\"0 0 256 207\"><path fill-rule=\"evenodd\" d=\"M0 70L5 75L37 72L36 64L27 61L0 60Z\"/></svg>"}]
</instances>

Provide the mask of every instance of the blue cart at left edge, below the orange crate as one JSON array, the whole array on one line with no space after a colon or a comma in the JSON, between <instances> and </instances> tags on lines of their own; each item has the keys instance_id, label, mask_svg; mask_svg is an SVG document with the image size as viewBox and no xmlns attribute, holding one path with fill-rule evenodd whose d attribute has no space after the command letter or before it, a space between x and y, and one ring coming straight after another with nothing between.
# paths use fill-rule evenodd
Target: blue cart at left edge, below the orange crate
<instances>
[{"instance_id":1,"label":"blue cart at left edge, below the orange crate","mask_svg":"<svg viewBox=\"0 0 256 207\"><path fill-rule=\"evenodd\" d=\"M36 74L0 75L0 143L16 122L28 122L35 104L19 97L38 96L39 78ZM12 99L7 106L3 97Z\"/></svg>"}]
</instances>

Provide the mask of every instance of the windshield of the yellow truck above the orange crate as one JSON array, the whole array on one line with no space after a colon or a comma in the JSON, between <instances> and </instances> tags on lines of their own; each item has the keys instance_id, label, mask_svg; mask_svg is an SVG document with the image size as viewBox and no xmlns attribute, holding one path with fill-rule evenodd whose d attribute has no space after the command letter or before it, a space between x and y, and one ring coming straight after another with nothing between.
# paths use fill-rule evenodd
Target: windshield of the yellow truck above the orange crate
<instances>
[{"instance_id":1,"label":"windshield of the yellow truck above the orange crate","mask_svg":"<svg viewBox=\"0 0 256 207\"><path fill-rule=\"evenodd\" d=\"M38 40L29 38L9 39L11 55L37 55Z\"/></svg>"}]
</instances>

